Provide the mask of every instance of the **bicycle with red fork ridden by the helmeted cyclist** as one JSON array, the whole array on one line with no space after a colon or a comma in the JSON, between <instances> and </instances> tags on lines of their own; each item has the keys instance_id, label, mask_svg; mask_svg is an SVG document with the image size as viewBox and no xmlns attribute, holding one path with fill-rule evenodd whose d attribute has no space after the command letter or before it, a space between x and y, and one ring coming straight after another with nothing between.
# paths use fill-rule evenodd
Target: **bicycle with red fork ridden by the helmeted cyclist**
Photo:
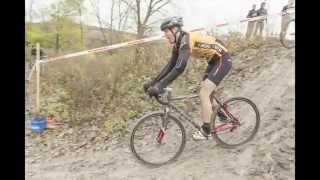
<instances>
[{"instance_id":1,"label":"bicycle with red fork ridden by the helmeted cyclist","mask_svg":"<svg viewBox=\"0 0 320 180\"><path fill-rule=\"evenodd\" d=\"M157 102L163 105L163 111L154 111L141 117L133 128L130 137L131 151L134 156L140 160L140 162L151 166L161 166L178 158L186 144L186 132L181 123L181 119L174 115L171 111L179 114L183 119L191 123L196 129L200 130L201 127L196 124L189 115L186 115L185 111L173 105L172 102L198 97L199 95L196 94L173 97L171 88L165 88L165 92L162 95L155 97ZM259 128L260 114L257 106L251 100L244 97L234 97L221 103L213 94L211 94L210 101L213 102L213 100L215 100L218 104L218 113L216 114L218 114L219 122L216 121L217 115L215 117L211 117L211 133L218 145L221 145L224 148L235 148L249 142L254 138ZM235 109L232 109L234 104L237 106L235 106ZM240 113L239 110L244 110L245 105L250 107L251 111ZM253 113L249 114L249 112ZM224 139L224 134L234 135L233 133L238 132L241 126L248 123L248 121L242 122L243 119L240 121L240 115L244 114L246 115L247 120L249 119L249 115L253 115L252 131L245 130L245 135L248 135L248 137L244 140L238 140L236 142L229 142L227 141L228 138ZM231 139L234 140L235 138L231 137ZM148 140L151 141L149 142ZM171 146L167 146L168 144ZM150 148L147 147L148 145L154 145L155 150L150 150ZM176 148L175 145L178 145L178 148ZM162 146L169 147L169 150L165 151L160 149ZM170 150L173 152L168 152ZM157 155L155 154L156 151L160 151L160 153ZM170 155L170 157L166 158L165 155ZM158 159L160 159L160 161L157 161Z\"/></svg>"}]
</instances>

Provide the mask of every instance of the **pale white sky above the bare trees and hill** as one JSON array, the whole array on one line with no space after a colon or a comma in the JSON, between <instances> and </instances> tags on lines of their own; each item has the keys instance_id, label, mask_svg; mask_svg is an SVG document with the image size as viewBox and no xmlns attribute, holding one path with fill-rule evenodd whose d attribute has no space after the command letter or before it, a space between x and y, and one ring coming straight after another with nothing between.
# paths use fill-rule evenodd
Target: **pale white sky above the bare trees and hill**
<instances>
[{"instance_id":1,"label":"pale white sky above the bare trees and hill","mask_svg":"<svg viewBox=\"0 0 320 180\"><path fill-rule=\"evenodd\" d=\"M26 15L29 12L29 4L32 0L25 0ZM37 11L43 7L48 7L51 3L59 0L33 0L33 10ZM155 18L162 19L166 16L180 15L184 19L184 28L191 30L200 27L211 28L215 24L238 21L245 18L252 4L260 7L261 2L266 2L269 14L278 13L282 7L287 4L288 0L172 0L172 3L166 7L165 15L158 14ZM90 3L86 2L88 13L84 17L84 21L89 25L97 25L96 18L90 15ZM110 14L111 0L100 0L101 14L108 16ZM28 19L28 16L26 16ZM37 19L34 18L34 21ZM269 18L269 31L280 31L280 16ZM159 24L155 28L158 28ZM224 31L242 31L246 29L246 23L237 23L228 27L219 28L218 32ZM155 29L155 34L161 33Z\"/></svg>"}]
</instances>

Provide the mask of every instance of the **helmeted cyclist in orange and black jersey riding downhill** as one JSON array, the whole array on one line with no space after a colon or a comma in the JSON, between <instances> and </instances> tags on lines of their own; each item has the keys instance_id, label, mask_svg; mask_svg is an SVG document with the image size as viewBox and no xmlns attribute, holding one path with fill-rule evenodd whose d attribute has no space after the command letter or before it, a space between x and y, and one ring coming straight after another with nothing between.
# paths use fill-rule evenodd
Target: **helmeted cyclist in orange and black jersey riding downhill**
<instances>
[{"instance_id":1,"label":"helmeted cyclist in orange and black jersey riding downhill","mask_svg":"<svg viewBox=\"0 0 320 180\"><path fill-rule=\"evenodd\" d=\"M216 90L230 71L231 58L223 43L215 37L186 32L181 29L182 26L182 17L171 17L162 22L160 29L164 31L169 43L173 44L171 59L156 78L144 84L144 90L150 96L158 96L164 92L165 87L183 73L190 56L207 60L208 66L201 82L199 95L203 124L200 131L193 133L193 138L195 140L211 139L210 117L217 113L217 108L212 110L210 94ZM213 107L217 106L213 105ZM226 119L222 112L219 112L218 116Z\"/></svg>"}]
</instances>

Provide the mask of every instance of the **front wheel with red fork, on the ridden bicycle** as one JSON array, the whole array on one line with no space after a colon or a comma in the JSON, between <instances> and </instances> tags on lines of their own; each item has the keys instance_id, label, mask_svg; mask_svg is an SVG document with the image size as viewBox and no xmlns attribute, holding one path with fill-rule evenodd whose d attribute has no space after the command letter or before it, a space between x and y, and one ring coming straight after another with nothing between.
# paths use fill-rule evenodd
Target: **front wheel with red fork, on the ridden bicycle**
<instances>
[{"instance_id":1,"label":"front wheel with red fork, on the ridden bicycle","mask_svg":"<svg viewBox=\"0 0 320 180\"><path fill-rule=\"evenodd\" d=\"M181 122L170 114L164 116L162 112L146 115L132 131L131 151L145 164L160 166L169 163L185 147L185 129Z\"/></svg>"}]
</instances>

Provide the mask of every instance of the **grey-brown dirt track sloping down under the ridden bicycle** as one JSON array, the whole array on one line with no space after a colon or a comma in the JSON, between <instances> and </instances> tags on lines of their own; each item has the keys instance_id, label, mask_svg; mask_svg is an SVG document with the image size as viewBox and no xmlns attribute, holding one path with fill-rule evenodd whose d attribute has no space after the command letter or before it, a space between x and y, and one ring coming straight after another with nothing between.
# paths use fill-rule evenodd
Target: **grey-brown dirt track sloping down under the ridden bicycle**
<instances>
[{"instance_id":1,"label":"grey-brown dirt track sloping down under the ridden bicycle","mask_svg":"<svg viewBox=\"0 0 320 180\"><path fill-rule=\"evenodd\" d=\"M294 52L275 42L247 49L234 57L233 71L222 84L224 94L250 98L261 113L257 136L240 148L223 149L214 141L195 142L191 139L194 129L187 126L184 152L169 165L159 168L142 165L133 157L129 137L125 136L114 140L104 152L26 163L26 179L294 179ZM130 123L131 129L134 124Z\"/></svg>"}]
</instances>

